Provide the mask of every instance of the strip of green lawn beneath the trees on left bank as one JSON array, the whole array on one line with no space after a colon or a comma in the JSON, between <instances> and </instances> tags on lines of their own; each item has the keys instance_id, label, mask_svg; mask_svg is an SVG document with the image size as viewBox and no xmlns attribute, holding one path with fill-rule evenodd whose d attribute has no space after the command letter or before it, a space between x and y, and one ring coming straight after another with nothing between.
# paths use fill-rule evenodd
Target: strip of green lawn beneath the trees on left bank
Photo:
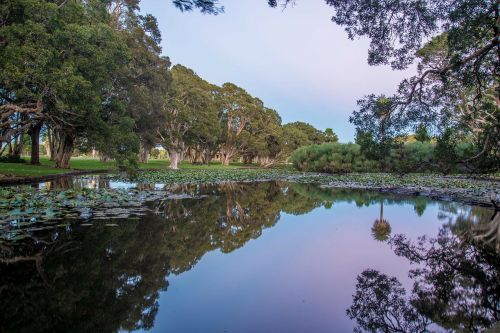
<instances>
[{"instance_id":1,"label":"strip of green lawn beneath the trees on left bank","mask_svg":"<svg viewBox=\"0 0 500 333\"><path fill-rule=\"evenodd\" d=\"M26 158L25 158L26 159ZM26 160L29 160L26 159ZM0 175L3 176L17 176L17 177L34 177L46 176L54 174L63 174L76 170L115 170L114 162L103 163L98 159L89 157L73 157L71 159L71 169L57 169L54 162L50 161L48 157L40 157L41 165L31 165L29 163L0 163ZM179 165L181 169L227 169L227 168L240 168L243 165L240 163L233 163L229 166L223 166L218 162L212 162L210 165L191 165L184 161ZM168 160L150 160L148 164L140 164L141 170L147 169L168 169Z\"/></svg>"}]
</instances>

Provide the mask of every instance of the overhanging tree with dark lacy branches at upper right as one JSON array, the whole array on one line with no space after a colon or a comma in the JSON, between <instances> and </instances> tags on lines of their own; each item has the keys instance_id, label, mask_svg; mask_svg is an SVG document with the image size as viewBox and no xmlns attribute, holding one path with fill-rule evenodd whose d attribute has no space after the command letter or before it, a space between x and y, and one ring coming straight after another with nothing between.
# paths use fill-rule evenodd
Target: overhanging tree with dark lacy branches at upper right
<instances>
[{"instance_id":1,"label":"overhanging tree with dark lacy branches at upper right","mask_svg":"<svg viewBox=\"0 0 500 333\"><path fill-rule=\"evenodd\" d=\"M276 7L294 1L268 3ZM498 0L326 3L333 7L332 21L344 27L350 39L370 40L370 65L390 64L400 70L418 60L417 75L401 82L398 93L391 97L390 113L398 130L408 131L412 124L422 122L443 129L450 122L465 122L474 147L461 163L477 171L498 170Z\"/></svg>"}]
</instances>

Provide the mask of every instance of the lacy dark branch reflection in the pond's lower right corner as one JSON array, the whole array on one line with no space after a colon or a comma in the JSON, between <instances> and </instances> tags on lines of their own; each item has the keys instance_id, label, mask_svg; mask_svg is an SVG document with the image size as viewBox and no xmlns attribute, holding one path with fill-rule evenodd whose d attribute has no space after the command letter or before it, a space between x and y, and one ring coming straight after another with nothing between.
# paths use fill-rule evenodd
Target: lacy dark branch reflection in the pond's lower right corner
<instances>
[{"instance_id":1,"label":"lacy dark branch reflection in the pond's lower right corner","mask_svg":"<svg viewBox=\"0 0 500 333\"><path fill-rule=\"evenodd\" d=\"M404 235L392 237L394 252L417 266L409 274L414 282L411 296L406 297L396 278L373 270L363 272L347 312L356 319L356 330L431 332L429 324L434 322L447 330L482 332L498 322L499 215L487 221L469 221L467 231L447 224L437 238L421 237L412 242ZM457 222L464 221L459 218ZM376 306L388 300L394 309Z\"/></svg>"}]
</instances>

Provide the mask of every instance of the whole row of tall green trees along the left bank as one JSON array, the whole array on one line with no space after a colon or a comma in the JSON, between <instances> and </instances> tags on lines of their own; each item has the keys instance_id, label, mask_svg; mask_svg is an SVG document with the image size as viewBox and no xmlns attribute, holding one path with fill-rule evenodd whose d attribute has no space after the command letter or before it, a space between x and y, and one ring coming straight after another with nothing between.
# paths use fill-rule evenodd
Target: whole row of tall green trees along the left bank
<instances>
[{"instance_id":1,"label":"whole row of tall green trees along the left bank","mask_svg":"<svg viewBox=\"0 0 500 333\"><path fill-rule=\"evenodd\" d=\"M70 167L75 151L97 151L131 170L159 145L172 168L184 158L267 165L290 156L277 111L232 83L217 87L182 65L170 68L156 18L139 4L2 2L0 156L19 159L31 142L37 164L41 136L60 168ZM223 12L218 1L173 4Z\"/></svg>"}]
</instances>

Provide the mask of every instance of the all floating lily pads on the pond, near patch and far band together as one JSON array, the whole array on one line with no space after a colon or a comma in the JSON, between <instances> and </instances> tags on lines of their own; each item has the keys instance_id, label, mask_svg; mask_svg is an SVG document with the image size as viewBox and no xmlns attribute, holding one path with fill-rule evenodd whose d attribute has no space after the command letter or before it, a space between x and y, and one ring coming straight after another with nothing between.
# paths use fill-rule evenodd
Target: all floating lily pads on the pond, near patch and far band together
<instances>
[{"instance_id":1,"label":"all floating lily pads on the pond, near patch and far band together","mask_svg":"<svg viewBox=\"0 0 500 333\"><path fill-rule=\"evenodd\" d=\"M110 186L112 180L123 182L121 185L125 188L113 188ZM315 193L321 189L326 191L317 193L319 202L324 200L322 196L331 196L332 188L421 195L482 205L489 204L487 194L491 190L500 194L500 182L495 180L425 174L395 177L381 173L331 175L290 169L197 169L142 171L134 183L120 175L74 177L71 181L54 182L40 189L30 186L0 188L0 239L23 239L29 237L28 231L67 227L73 221L87 223L143 215L150 211L146 202L182 200L196 195L189 193L186 185L264 181L310 184L316 188ZM308 193L311 194L310 190ZM299 206L291 211L302 211Z\"/></svg>"}]
</instances>

